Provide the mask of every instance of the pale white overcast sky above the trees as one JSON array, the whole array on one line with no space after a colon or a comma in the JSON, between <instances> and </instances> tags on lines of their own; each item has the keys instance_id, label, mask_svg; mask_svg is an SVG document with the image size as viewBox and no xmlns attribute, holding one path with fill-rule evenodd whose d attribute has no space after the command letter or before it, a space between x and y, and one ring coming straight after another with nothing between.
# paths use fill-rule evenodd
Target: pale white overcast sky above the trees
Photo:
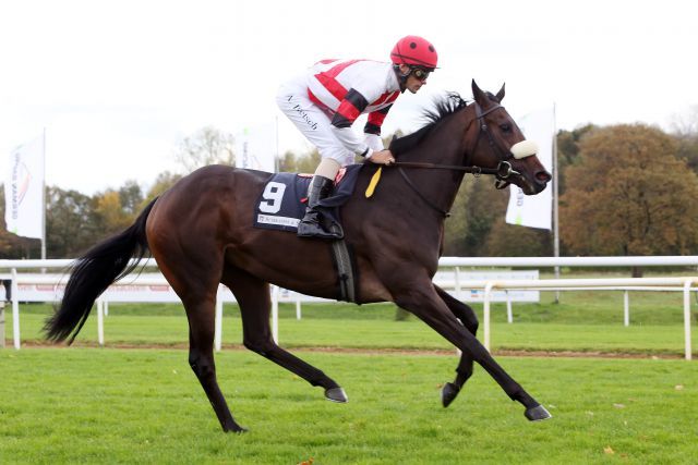
<instances>
[{"instance_id":1,"label":"pale white overcast sky above the trees","mask_svg":"<svg viewBox=\"0 0 698 465\"><path fill-rule=\"evenodd\" d=\"M398 99L386 134L419 127L436 91L469 98L471 78L506 82L515 118L554 102L558 129L669 129L698 105L697 21L685 0L3 1L0 159L46 127L47 184L92 195L177 171L178 142L205 125L278 115L280 151L304 150L279 83L323 58L388 61L409 34L441 69Z\"/></svg>"}]
</instances>

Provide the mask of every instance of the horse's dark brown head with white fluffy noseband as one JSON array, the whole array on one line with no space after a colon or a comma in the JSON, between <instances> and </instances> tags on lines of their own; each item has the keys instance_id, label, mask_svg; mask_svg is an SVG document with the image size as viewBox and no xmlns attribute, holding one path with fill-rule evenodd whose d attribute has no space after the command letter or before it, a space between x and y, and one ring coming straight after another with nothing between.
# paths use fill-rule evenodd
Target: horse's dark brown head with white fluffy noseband
<instances>
[{"instance_id":1,"label":"horse's dark brown head with white fluffy noseband","mask_svg":"<svg viewBox=\"0 0 698 465\"><path fill-rule=\"evenodd\" d=\"M510 183L521 187L526 195L543 191L552 176L535 156L535 144L526 140L514 119L500 105L504 85L497 95L492 95L482 91L473 79L472 96L477 124L472 133L468 132L474 142L468 150L467 164L498 168L498 188Z\"/></svg>"}]
</instances>

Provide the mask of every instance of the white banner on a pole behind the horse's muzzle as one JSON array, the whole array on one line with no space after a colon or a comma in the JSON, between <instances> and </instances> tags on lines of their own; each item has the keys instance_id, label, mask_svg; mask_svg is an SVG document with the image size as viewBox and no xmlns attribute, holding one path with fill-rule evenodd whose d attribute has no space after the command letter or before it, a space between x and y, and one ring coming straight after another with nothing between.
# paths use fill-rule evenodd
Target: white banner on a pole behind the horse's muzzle
<instances>
[{"instance_id":1,"label":"white banner on a pole behind the horse's muzzle","mask_svg":"<svg viewBox=\"0 0 698 465\"><path fill-rule=\"evenodd\" d=\"M517 121L527 139L538 144L538 158L545 169L553 172L553 137L555 137L555 110L553 107L534 111ZM520 187L509 186L509 206L506 222L522 227L552 229L553 186L538 195L525 195Z\"/></svg>"}]
</instances>

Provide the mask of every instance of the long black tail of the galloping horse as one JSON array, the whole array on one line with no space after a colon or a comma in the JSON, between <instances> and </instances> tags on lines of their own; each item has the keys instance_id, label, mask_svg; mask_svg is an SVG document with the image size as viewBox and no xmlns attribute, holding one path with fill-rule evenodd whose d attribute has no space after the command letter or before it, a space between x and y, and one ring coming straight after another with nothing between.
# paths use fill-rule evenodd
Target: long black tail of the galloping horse
<instances>
[{"instance_id":1,"label":"long black tail of the galloping horse","mask_svg":"<svg viewBox=\"0 0 698 465\"><path fill-rule=\"evenodd\" d=\"M63 299L44 326L47 339L59 342L70 338L68 343L72 344L97 297L115 281L133 271L148 254L145 222L155 200L157 198L145 207L131 227L97 244L71 265ZM137 260L130 262L131 258Z\"/></svg>"}]
</instances>

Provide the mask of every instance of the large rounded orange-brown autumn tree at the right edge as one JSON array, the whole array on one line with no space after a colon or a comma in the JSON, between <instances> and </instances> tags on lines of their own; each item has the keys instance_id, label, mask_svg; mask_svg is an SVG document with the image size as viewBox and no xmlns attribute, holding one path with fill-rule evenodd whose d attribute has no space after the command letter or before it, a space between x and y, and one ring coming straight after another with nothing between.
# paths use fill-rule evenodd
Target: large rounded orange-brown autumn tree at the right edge
<instances>
[{"instance_id":1,"label":"large rounded orange-brown autumn tree at the right edge","mask_svg":"<svg viewBox=\"0 0 698 465\"><path fill-rule=\"evenodd\" d=\"M698 176L674 138L642 124L587 134L566 171L561 238L580 255L696 253Z\"/></svg>"}]
</instances>

